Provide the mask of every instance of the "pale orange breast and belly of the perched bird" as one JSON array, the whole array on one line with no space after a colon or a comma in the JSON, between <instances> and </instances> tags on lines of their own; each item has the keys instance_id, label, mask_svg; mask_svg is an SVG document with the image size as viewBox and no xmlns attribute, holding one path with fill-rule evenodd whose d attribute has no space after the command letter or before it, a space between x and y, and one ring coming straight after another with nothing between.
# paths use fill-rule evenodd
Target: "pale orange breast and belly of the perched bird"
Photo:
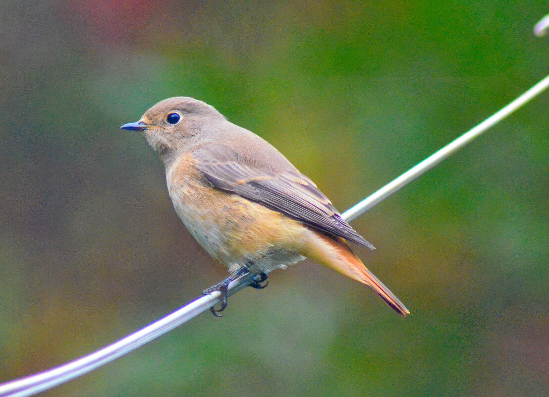
<instances>
[{"instance_id":1,"label":"pale orange breast and belly of the perched bird","mask_svg":"<svg viewBox=\"0 0 549 397\"><path fill-rule=\"evenodd\" d=\"M264 270L270 271L270 267L302 259L295 255L305 244L306 228L301 222L213 188L193 166L190 155L167 170L166 180L184 225L210 255L226 266L261 262Z\"/></svg>"}]
</instances>

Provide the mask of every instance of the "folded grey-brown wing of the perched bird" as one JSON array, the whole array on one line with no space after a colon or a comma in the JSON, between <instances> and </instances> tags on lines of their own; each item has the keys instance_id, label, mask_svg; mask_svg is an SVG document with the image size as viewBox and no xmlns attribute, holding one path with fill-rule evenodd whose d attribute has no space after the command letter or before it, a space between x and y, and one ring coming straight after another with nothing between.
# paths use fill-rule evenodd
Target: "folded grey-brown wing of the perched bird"
<instances>
[{"instance_id":1,"label":"folded grey-brown wing of the perched bird","mask_svg":"<svg viewBox=\"0 0 549 397\"><path fill-rule=\"evenodd\" d=\"M273 171L244 161L213 160L209 152L209 149L199 149L193 157L197 160L198 170L214 188L238 194L317 230L374 249L341 218L315 183L289 162L285 169Z\"/></svg>"}]
</instances>

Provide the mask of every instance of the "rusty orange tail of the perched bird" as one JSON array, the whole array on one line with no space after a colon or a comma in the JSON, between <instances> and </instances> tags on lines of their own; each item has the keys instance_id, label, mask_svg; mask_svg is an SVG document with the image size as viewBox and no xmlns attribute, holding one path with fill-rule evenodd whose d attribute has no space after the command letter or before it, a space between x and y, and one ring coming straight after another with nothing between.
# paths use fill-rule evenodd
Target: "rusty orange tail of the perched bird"
<instances>
[{"instance_id":1,"label":"rusty orange tail of the perched bird","mask_svg":"<svg viewBox=\"0 0 549 397\"><path fill-rule=\"evenodd\" d=\"M301 253L308 258L345 276L371 287L396 312L403 316L410 314L406 306L369 271L355 255L343 238L328 237L323 233L310 230L305 250Z\"/></svg>"}]
</instances>

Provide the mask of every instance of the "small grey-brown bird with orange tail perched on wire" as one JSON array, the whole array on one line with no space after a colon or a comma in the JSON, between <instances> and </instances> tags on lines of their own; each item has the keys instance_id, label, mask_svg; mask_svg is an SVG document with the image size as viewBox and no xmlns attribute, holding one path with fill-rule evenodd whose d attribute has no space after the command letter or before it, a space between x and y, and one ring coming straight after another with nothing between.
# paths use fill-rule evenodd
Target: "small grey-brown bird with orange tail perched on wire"
<instances>
[{"instance_id":1,"label":"small grey-brown bird with orange tail perched on wire","mask_svg":"<svg viewBox=\"0 0 549 397\"><path fill-rule=\"evenodd\" d=\"M410 314L346 241L373 245L264 139L188 97L165 99L121 128L141 131L159 154L177 214L233 275L250 271L262 282L267 273L307 257L371 287L401 315ZM206 290L225 293L221 310L234 278Z\"/></svg>"}]
</instances>

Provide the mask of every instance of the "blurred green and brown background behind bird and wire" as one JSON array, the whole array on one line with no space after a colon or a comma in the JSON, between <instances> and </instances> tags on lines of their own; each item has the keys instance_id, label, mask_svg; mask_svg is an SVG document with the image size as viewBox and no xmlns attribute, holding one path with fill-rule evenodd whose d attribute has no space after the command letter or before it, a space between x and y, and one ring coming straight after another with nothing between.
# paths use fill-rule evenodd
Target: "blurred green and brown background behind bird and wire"
<instances>
[{"instance_id":1,"label":"blurred green and brown background behind bird and wire","mask_svg":"<svg viewBox=\"0 0 549 397\"><path fill-rule=\"evenodd\" d=\"M0 382L227 273L120 125L191 96L344 211L549 70L547 2L0 2ZM542 94L353 223L412 311L310 261L49 396L549 395Z\"/></svg>"}]
</instances>

